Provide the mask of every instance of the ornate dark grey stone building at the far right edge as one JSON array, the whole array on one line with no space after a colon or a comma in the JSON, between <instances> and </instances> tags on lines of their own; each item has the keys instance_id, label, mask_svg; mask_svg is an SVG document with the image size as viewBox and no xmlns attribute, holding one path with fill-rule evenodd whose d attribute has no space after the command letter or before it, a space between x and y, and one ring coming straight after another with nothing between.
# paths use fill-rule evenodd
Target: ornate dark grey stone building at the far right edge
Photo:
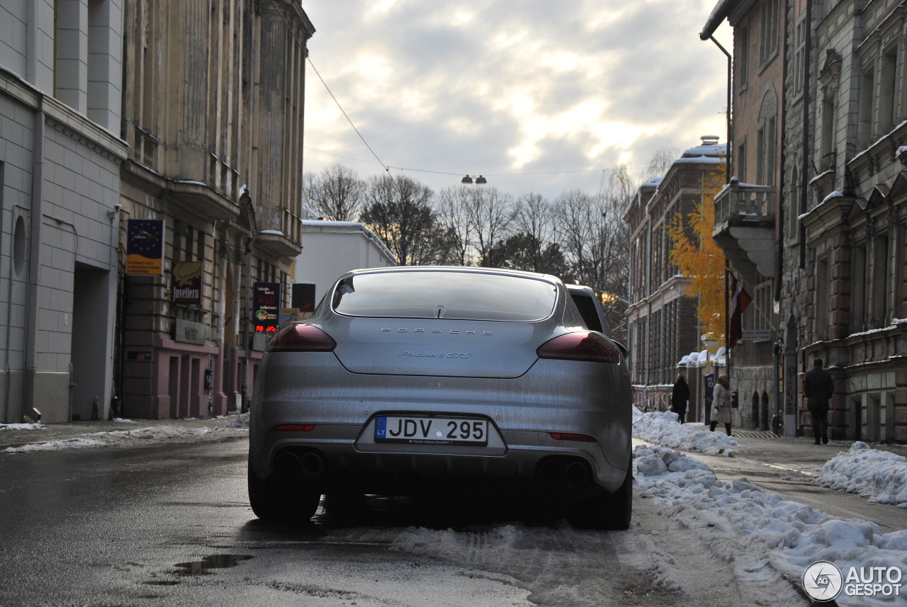
<instances>
[{"instance_id":1,"label":"ornate dark grey stone building at the far right edge","mask_svg":"<svg viewBox=\"0 0 907 607\"><path fill-rule=\"evenodd\" d=\"M837 438L907 440L907 2L813 8L804 365L827 361Z\"/></svg>"}]
</instances>

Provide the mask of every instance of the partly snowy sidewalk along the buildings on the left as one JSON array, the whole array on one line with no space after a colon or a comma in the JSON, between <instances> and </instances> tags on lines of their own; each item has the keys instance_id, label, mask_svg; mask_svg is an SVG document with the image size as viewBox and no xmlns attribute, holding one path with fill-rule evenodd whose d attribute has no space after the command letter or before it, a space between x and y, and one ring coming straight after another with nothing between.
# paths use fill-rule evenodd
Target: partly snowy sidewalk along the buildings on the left
<instances>
[{"instance_id":1,"label":"partly snowy sidewalk along the buildings on the left","mask_svg":"<svg viewBox=\"0 0 907 607\"><path fill-rule=\"evenodd\" d=\"M238 415L190 419L119 419L63 424L0 424L0 455L26 450L195 442L249 436ZM231 427L230 425L239 425Z\"/></svg>"}]
</instances>

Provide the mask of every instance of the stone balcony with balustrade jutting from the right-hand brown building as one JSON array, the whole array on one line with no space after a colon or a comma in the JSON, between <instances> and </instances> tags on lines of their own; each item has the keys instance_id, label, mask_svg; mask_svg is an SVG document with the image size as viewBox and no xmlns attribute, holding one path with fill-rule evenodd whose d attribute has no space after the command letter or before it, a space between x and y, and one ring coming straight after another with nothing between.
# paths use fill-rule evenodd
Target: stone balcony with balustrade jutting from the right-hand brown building
<instances>
[{"instance_id":1,"label":"stone balcony with balustrade jutting from the right-hand brown building","mask_svg":"<svg viewBox=\"0 0 907 607\"><path fill-rule=\"evenodd\" d=\"M712 236L727 258L747 275L775 275L775 188L736 178L715 197Z\"/></svg>"}]
</instances>

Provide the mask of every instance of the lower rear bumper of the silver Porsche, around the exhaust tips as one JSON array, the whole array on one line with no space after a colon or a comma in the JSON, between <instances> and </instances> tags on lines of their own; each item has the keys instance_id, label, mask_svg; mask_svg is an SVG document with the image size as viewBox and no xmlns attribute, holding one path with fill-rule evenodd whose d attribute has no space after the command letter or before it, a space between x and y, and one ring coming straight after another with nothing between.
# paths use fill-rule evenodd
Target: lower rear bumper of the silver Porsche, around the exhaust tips
<instances>
[{"instance_id":1,"label":"lower rear bumper of the silver Porsche, around the exhaust tips","mask_svg":"<svg viewBox=\"0 0 907 607\"><path fill-rule=\"evenodd\" d=\"M613 492L627 471L611 465L598 443L554 440L540 432L502 431L505 447L490 452L364 445L357 441L359 433L360 428L330 425L309 432L273 431L264 448L249 457L249 467L262 479L305 479L320 493L386 495L473 487L570 492L590 485Z\"/></svg>"}]
</instances>

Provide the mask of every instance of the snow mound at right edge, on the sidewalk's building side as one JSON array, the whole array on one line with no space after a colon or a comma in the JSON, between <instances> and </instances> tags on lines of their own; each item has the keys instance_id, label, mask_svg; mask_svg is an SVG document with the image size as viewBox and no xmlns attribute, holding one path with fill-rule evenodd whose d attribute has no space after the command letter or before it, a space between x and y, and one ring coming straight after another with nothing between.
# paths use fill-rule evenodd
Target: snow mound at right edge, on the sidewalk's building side
<instances>
[{"instance_id":1,"label":"snow mound at right edge, on the sidewalk's building side","mask_svg":"<svg viewBox=\"0 0 907 607\"><path fill-rule=\"evenodd\" d=\"M907 458L855 442L846 453L829 460L819 482L869 497L878 504L896 504L907 509Z\"/></svg>"}]
</instances>

